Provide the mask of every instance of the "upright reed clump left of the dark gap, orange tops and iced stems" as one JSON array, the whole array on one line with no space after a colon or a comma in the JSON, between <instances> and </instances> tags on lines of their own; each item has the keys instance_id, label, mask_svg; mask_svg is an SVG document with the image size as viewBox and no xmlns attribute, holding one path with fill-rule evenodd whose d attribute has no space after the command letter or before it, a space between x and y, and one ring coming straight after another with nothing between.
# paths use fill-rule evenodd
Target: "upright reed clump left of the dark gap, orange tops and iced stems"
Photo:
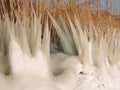
<instances>
[{"instance_id":1,"label":"upright reed clump left of the dark gap, orange tops and iced stems","mask_svg":"<svg viewBox=\"0 0 120 90\"><path fill-rule=\"evenodd\" d=\"M19 72L19 69L21 71L24 69L20 66L20 62L24 63L24 61L21 60L17 63L17 58L14 58L18 55L14 53L15 42L21 48L22 53L28 55L31 59L38 52L42 52L43 56L45 54L45 57L49 58L50 30L48 16L46 10L41 9L40 5L37 0L35 3L24 0L0 1L0 71L3 73L10 74ZM43 65L46 68L42 71L49 74L49 59L43 59ZM28 65L24 64L24 66L29 67L29 63Z\"/></svg>"}]
</instances>

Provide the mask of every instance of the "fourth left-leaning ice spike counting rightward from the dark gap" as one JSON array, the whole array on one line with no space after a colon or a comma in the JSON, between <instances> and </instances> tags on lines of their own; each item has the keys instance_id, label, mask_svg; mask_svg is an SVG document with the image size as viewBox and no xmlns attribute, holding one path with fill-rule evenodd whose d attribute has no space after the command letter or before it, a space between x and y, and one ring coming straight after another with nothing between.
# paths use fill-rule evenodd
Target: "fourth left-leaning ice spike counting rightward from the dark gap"
<instances>
[{"instance_id":1,"label":"fourth left-leaning ice spike counting rightward from the dark gap","mask_svg":"<svg viewBox=\"0 0 120 90\"><path fill-rule=\"evenodd\" d=\"M75 16L75 25L77 26L77 29L79 31L79 41L82 48L82 54L80 57L82 58L83 64L90 64L90 58L89 58L89 41L88 36L86 34L87 30L82 30L81 24L77 17Z\"/></svg>"}]
</instances>

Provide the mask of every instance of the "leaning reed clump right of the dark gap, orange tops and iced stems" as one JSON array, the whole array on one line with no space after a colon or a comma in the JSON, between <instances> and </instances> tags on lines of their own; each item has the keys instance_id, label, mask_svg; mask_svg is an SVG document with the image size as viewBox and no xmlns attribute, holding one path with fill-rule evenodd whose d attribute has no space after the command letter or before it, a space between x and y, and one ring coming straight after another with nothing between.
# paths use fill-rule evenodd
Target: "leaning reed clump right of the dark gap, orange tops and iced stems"
<instances>
[{"instance_id":1,"label":"leaning reed clump right of the dark gap, orange tops and iced stems","mask_svg":"<svg viewBox=\"0 0 120 90\"><path fill-rule=\"evenodd\" d=\"M95 11L89 8L87 0L85 9L77 4L70 1L67 5L57 5L57 14L49 15L63 51L77 54L83 64L102 68L108 68L108 63L117 64L120 52L117 46L119 29L116 28L119 28L119 23L114 14L109 10L100 11L99 2L96 2Z\"/></svg>"}]
</instances>

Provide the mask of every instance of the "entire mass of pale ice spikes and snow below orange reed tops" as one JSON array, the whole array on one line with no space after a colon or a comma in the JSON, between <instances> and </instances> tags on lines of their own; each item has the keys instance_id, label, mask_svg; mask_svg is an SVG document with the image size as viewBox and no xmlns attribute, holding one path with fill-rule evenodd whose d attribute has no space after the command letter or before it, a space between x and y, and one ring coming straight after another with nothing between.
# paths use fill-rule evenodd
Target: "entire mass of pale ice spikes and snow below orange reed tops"
<instances>
[{"instance_id":1,"label":"entire mass of pale ice spikes and snow below orange reed tops","mask_svg":"<svg viewBox=\"0 0 120 90\"><path fill-rule=\"evenodd\" d=\"M62 53L50 55L47 19L45 27L42 27L41 16L38 18L35 13L31 19L23 17L21 21L17 17L16 22L10 21L6 15L0 19L2 90L88 90L85 88L86 83L91 84L91 90L99 90L101 87L107 90L105 87L112 87L111 84L115 82L119 86L120 53L119 48L110 45L113 39L99 36L92 23L90 32L87 33L84 30L87 28L81 27L77 16L74 16L76 26L68 16L71 32L62 17L60 19L63 27L50 14L49 17L61 39L64 52L73 56ZM83 86L78 88L78 82ZM92 86L94 83L98 85ZM118 86L116 90L119 90Z\"/></svg>"}]
</instances>

